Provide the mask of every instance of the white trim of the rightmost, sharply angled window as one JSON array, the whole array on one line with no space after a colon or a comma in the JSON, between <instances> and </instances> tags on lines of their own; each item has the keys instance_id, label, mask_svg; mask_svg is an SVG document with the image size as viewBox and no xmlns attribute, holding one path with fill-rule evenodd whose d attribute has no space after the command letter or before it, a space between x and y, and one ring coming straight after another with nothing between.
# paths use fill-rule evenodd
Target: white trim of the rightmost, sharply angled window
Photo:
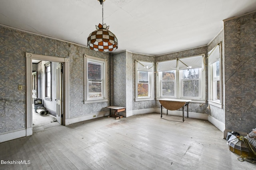
<instances>
[{"instance_id":1,"label":"white trim of the rightmost, sharply angled window","mask_svg":"<svg viewBox=\"0 0 256 170\"><path fill-rule=\"evenodd\" d=\"M218 43L220 45L220 101L213 100L213 64L208 64L208 104L223 108L223 93L222 93L222 42ZM216 45L216 46L218 46ZM215 48L215 47L214 47ZM211 50L212 51L212 50ZM209 56L208 56L209 57Z\"/></svg>"}]
</instances>

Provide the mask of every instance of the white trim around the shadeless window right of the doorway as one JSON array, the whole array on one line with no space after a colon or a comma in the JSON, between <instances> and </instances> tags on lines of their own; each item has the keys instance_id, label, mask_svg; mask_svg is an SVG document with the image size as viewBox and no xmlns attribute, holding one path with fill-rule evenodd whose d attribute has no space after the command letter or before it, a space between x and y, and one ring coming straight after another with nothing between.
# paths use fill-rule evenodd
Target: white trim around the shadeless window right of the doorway
<instances>
[{"instance_id":1,"label":"white trim around the shadeless window right of the doorway","mask_svg":"<svg viewBox=\"0 0 256 170\"><path fill-rule=\"evenodd\" d=\"M95 61L103 63L103 85L102 85L102 96L101 99L88 99L87 98L87 92L88 92L88 86L87 86L87 61ZM90 104L90 103L98 103L98 102L108 102L108 61L105 59L100 59L97 57L92 57L89 55L84 55L84 104Z\"/></svg>"}]
</instances>

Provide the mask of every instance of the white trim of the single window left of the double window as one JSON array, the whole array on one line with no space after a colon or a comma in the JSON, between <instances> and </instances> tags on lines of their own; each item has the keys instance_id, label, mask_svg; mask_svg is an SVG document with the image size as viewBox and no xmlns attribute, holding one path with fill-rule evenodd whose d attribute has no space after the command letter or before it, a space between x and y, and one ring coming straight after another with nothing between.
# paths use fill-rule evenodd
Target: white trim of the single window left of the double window
<instances>
[{"instance_id":1,"label":"white trim of the single window left of the double window","mask_svg":"<svg viewBox=\"0 0 256 170\"><path fill-rule=\"evenodd\" d=\"M140 61L139 61L140 62ZM145 61L141 61L145 63ZM154 62L146 62L154 63ZM149 81L150 81L150 97L138 97L138 61L135 61L135 101L146 101L146 100L155 100L154 97L154 72L149 72Z\"/></svg>"}]
</instances>

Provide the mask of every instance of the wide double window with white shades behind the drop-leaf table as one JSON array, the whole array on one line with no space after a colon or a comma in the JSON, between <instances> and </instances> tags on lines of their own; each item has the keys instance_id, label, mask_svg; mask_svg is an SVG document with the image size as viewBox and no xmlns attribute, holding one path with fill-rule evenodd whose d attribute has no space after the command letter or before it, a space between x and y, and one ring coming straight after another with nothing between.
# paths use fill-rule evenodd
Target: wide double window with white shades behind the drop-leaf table
<instances>
[{"instance_id":1,"label":"wide double window with white shades behind the drop-leaf table","mask_svg":"<svg viewBox=\"0 0 256 170\"><path fill-rule=\"evenodd\" d=\"M157 97L184 98L202 103L205 99L203 60L204 55L200 55L157 62Z\"/></svg>"}]
</instances>

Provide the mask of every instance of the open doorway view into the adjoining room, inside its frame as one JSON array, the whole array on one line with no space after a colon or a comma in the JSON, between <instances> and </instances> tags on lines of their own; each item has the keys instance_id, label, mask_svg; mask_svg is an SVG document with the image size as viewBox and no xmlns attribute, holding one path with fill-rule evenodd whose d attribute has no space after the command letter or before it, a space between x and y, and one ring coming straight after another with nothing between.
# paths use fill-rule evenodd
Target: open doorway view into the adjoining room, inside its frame
<instances>
[{"instance_id":1,"label":"open doorway view into the adjoining room, inside its frame","mask_svg":"<svg viewBox=\"0 0 256 170\"><path fill-rule=\"evenodd\" d=\"M33 132L60 125L56 113L62 93L62 63L32 60ZM58 92L57 92L58 90ZM58 103L58 102L57 102Z\"/></svg>"}]
</instances>

